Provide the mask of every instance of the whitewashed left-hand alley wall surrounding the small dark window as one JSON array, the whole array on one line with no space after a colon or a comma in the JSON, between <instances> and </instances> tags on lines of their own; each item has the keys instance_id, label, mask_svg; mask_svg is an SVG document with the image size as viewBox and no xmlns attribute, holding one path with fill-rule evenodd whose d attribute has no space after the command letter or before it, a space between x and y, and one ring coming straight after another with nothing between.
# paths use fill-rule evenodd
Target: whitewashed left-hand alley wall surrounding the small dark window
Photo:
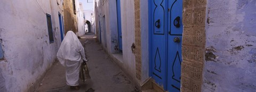
<instances>
[{"instance_id":1,"label":"whitewashed left-hand alley wall surrounding the small dark window","mask_svg":"<svg viewBox=\"0 0 256 92\"><path fill-rule=\"evenodd\" d=\"M58 1L60 2L60 1ZM0 1L1 91L33 91L56 59L60 45L57 1ZM54 42L49 43L46 14L52 17ZM35 90L35 89L34 89Z\"/></svg>"}]
</instances>

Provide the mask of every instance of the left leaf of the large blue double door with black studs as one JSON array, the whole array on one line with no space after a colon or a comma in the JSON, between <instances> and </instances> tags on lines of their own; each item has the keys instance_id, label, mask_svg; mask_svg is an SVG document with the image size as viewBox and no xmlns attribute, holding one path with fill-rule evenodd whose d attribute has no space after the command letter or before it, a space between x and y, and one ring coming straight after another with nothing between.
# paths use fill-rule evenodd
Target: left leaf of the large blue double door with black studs
<instances>
[{"instance_id":1,"label":"left leaf of the large blue double door with black studs","mask_svg":"<svg viewBox=\"0 0 256 92\"><path fill-rule=\"evenodd\" d=\"M151 76L161 86L166 85L166 0L150 2Z\"/></svg>"}]
</instances>

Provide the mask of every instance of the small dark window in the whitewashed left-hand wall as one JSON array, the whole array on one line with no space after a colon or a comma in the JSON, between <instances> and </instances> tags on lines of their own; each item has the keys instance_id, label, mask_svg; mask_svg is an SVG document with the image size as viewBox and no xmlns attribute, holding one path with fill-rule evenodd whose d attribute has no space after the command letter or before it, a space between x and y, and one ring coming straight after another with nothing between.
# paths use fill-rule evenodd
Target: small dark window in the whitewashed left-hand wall
<instances>
[{"instance_id":1,"label":"small dark window in the whitewashed left-hand wall","mask_svg":"<svg viewBox=\"0 0 256 92\"><path fill-rule=\"evenodd\" d=\"M46 19L47 19L47 27L48 27L48 34L49 34L49 40L50 43L54 42L53 39L53 32L52 32L52 19L50 14L46 14Z\"/></svg>"}]
</instances>

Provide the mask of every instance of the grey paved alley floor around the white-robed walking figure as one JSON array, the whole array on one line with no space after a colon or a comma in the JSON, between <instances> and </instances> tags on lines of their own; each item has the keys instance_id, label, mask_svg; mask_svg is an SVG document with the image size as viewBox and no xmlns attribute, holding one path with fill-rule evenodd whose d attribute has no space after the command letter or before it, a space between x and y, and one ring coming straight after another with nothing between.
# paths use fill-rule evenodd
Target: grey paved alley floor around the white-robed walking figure
<instances>
[{"instance_id":1,"label":"grey paved alley floor around the white-robed walking figure","mask_svg":"<svg viewBox=\"0 0 256 92\"><path fill-rule=\"evenodd\" d=\"M65 67L55 62L52 68L47 71L45 78L36 89L38 92L58 91L83 91L91 92L135 92L135 88L129 78L113 61L111 61L102 48L94 34L89 33L81 37L85 53L89 57L87 65L91 79L85 82L80 81L79 90L71 90L66 84Z\"/></svg>"}]
</instances>

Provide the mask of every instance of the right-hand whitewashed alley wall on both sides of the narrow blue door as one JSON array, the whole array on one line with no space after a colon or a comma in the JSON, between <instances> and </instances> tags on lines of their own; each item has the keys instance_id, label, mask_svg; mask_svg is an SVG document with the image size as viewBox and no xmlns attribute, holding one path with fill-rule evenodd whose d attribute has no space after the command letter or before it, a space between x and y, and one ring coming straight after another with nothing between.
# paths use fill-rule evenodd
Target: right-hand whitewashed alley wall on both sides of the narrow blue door
<instances>
[{"instance_id":1,"label":"right-hand whitewashed alley wall on both sides of the narrow blue door","mask_svg":"<svg viewBox=\"0 0 256 92\"><path fill-rule=\"evenodd\" d=\"M117 31L117 10L116 10L116 0L109 1L95 1L97 6L95 8L95 19L100 21L101 29L101 42L103 48L113 56L113 54L118 51L115 50L115 46L118 44L118 31ZM106 41L105 41L105 30L103 29L103 16L105 15L106 20ZM98 19L98 17L100 18ZM137 84L137 79L135 77L135 56L132 53L131 46L135 41L134 37L134 1L121 1L121 20L122 20L122 47L123 53L118 57L121 58L119 66L124 69L126 73L132 77L132 81ZM98 27L99 22L95 22ZM97 28L98 29L98 28ZM98 38L100 38L98 36ZM105 45L106 42L106 45ZM117 45L118 47L118 45Z\"/></svg>"}]
</instances>

